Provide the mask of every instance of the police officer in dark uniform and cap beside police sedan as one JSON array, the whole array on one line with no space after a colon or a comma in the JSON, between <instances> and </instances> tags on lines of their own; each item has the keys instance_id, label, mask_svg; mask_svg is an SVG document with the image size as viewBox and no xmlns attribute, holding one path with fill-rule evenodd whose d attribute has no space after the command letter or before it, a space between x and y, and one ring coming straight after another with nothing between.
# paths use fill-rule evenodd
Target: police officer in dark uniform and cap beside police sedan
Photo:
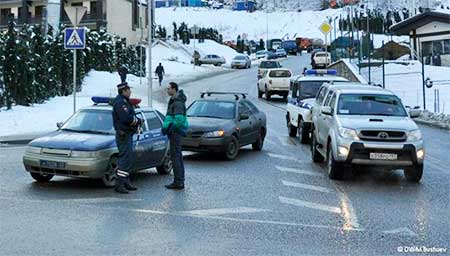
<instances>
[{"instance_id":1,"label":"police officer in dark uniform and cap beside police sedan","mask_svg":"<svg viewBox=\"0 0 450 256\"><path fill-rule=\"evenodd\" d=\"M116 170L116 192L127 194L137 190L130 184L130 172L133 167L133 134L137 132L142 120L136 117L130 104L131 89L128 84L117 85L118 95L113 102L113 123L116 130L116 144L119 149L119 162Z\"/></svg>"}]
</instances>

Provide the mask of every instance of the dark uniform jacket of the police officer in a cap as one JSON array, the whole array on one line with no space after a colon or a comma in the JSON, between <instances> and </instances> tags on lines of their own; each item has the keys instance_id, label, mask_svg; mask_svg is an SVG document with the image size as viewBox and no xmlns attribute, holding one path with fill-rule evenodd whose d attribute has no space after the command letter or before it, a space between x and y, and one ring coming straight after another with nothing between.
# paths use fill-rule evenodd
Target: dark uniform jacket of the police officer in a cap
<instances>
[{"instance_id":1,"label":"dark uniform jacket of the police officer in a cap","mask_svg":"<svg viewBox=\"0 0 450 256\"><path fill-rule=\"evenodd\" d=\"M136 133L139 119L134 107L123 95L117 95L113 102L113 124L118 135Z\"/></svg>"}]
</instances>

